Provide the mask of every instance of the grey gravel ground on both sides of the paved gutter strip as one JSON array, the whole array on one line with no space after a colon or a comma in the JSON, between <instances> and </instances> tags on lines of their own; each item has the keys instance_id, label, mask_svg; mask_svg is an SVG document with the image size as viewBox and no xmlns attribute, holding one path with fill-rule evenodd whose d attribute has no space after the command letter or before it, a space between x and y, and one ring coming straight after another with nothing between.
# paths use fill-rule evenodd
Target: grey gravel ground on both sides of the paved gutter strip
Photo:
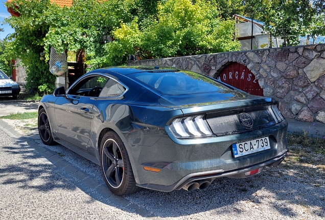
<instances>
[{"instance_id":1,"label":"grey gravel ground on both sides of the paved gutter strip","mask_svg":"<svg viewBox=\"0 0 325 220\"><path fill-rule=\"evenodd\" d=\"M103 183L99 167L61 145L45 146L69 163ZM5 145L0 153L0 216L22 218L30 213L51 219L141 219L128 207L98 201L49 169L41 160L0 131ZM325 157L314 162L285 160L247 179L221 178L204 190L170 193L143 189L125 196L129 204L143 208L151 218L164 219L325 219ZM18 164L18 166L17 166ZM97 192L101 195L100 192ZM15 213L15 217L10 218ZM86 216L86 217L85 217Z\"/></svg>"}]
</instances>

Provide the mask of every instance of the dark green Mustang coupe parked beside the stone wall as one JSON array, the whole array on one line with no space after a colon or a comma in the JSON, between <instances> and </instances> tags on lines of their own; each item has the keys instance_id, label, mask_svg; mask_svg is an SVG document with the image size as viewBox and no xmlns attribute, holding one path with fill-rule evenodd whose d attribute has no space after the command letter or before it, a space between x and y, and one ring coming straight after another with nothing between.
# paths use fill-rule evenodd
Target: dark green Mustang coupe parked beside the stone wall
<instances>
[{"instance_id":1,"label":"dark green Mustang coupe parked beside the stone wall","mask_svg":"<svg viewBox=\"0 0 325 220\"><path fill-rule=\"evenodd\" d=\"M98 163L116 195L260 173L286 156L287 126L271 98L159 67L94 70L38 107L42 142Z\"/></svg>"}]
</instances>

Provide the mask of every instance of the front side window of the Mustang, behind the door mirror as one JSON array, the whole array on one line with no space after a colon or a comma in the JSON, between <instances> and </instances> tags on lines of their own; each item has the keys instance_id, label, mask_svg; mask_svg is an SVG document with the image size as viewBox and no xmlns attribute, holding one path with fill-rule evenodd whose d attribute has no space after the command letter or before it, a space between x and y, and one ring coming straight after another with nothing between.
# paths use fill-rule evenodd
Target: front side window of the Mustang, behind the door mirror
<instances>
[{"instance_id":1,"label":"front side window of the Mustang, behind the door mirror","mask_svg":"<svg viewBox=\"0 0 325 220\"><path fill-rule=\"evenodd\" d=\"M76 84L70 91L71 95L98 97L107 78L102 76L87 77Z\"/></svg>"}]
</instances>

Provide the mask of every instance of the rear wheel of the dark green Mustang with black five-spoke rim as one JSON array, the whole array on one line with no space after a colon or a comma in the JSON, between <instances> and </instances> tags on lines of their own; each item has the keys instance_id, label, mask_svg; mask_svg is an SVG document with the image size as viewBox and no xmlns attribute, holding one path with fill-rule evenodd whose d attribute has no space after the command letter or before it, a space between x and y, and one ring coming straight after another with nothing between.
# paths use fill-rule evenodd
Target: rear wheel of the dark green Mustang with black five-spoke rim
<instances>
[{"instance_id":1,"label":"rear wheel of the dark green Mustang with black five-spoke rim","mask_svg":"<svg viewBox=\"0 0 325 220\"><path fill-rule=\"evenodd\" d=\"M104 181L113 194L128 195L140 189L135 185L126 148L114 131L107 132L101 141L100 167Z\"/></svg>"}]
</instances>

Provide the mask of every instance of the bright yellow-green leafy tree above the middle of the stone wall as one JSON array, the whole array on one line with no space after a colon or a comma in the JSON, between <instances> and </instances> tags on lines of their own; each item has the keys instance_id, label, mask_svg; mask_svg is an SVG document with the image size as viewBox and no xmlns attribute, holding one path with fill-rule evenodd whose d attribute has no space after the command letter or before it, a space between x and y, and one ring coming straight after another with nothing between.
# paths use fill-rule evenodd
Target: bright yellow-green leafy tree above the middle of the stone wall
<instances>
[{"instance_id":1,"label":"bright yellow-green leafy tree above the middle of the stone wall","mask_svg":"<svg viewBox=\"0 0 325 220\"><path fill-rule=\"evenodd\" d=\"M153 57L174 57L239 49L234 20L222 20L208 1L166 1L143 31L142 49Z\"/></svg>"}]
</instances>

